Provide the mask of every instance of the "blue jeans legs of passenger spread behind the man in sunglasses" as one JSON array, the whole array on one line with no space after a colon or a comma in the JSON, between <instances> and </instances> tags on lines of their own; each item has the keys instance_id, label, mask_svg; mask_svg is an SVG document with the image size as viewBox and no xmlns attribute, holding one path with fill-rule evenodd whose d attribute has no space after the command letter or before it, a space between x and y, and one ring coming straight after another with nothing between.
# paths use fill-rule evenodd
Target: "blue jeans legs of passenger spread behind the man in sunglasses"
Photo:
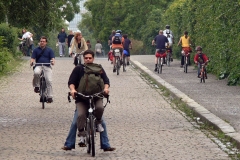
<instances>
[{"instance_id":1,"label":"blue jeans legs of passenger spread behind the man in sunglasses","mask_svg":"<svg viewBox=\"0 0 240 160\"><path fill-rule=\"evenodd\" d=\"M75 143L76 143L76 135L77 135L77 118L78 113L77 110L75 110L73 121L70 127L70 131L68 133L66 142L64 146L75 149ZM100 145L101 149L106 149L110 147L109 140L108 140L108 134L106 129L106 123L104 121L104 118L102 118L102 126L104 128L104 131L100 133Z\"/></svg>"}]
</instances>

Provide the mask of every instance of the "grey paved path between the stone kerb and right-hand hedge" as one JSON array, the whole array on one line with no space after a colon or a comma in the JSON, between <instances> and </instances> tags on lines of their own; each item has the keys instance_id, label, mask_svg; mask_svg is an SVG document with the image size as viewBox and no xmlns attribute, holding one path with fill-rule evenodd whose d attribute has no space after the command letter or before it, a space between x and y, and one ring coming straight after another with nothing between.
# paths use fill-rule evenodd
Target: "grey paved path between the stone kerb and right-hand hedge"
<instances>
[{"instance_id":1,"label":"grey paved path between the stone kerb and right-hand hedge","mask_svg":"<svg viewBox=\"0 0 240 160\"><path fill-rule=\"evenodd\" d=\"M154 70L153 55L132 56L131 59ZM159 76L240 132L239 86L227 86L226 80L217 80L211 74L208 74L206 83L201 84L193 66L186 74L180 68L180 61L175 59L170 67L163 67L163 74Z\"/></svg>"}]
</instances>

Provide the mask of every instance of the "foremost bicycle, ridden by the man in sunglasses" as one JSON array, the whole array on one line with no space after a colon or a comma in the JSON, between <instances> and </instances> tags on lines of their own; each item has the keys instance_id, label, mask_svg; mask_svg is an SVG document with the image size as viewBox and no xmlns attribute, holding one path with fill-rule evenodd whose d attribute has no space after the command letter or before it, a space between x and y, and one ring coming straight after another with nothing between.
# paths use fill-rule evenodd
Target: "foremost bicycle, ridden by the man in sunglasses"
<instances>
[{"instance_id":1,"label":"foremost bicycle, ridden by the man in sunglasses","mask_svg":"<svg viewBox=\"0 0 240 160\"><path fill-rule=\"evenodd\" d=\"M68 101L71 102L70 99L70 92L68 92ZM87 143L87 153L92 155L92 157L95 156L95 137L96 137L96 117L94 116L95 111L95 104L93 103L94 98L107 98L107 103L110 103L109 96L104 95L103 92L96 93L93 95L84 95L80 92L75 93L75 96L80 96L81 98L87 98L89 100L89 108L88 108L88 117L86 119L86 143ZM107 105L106 103L106 105ZM104 108L106 107L104 106Z\"/></svg>"}]
</instances>

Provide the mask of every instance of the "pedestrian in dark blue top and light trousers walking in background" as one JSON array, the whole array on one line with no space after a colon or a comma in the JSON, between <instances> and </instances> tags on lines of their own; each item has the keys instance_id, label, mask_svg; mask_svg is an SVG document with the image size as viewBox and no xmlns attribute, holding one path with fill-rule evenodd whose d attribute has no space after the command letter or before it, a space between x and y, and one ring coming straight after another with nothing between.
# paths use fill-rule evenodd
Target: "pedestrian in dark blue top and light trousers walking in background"
<instances>
[{"instance_id":1,"label":"pedestrian in dark blue top and light trousers walking in background","mask_svg":"<svg viewBox=\"0 0 240 160\"><path fill-rule=\"evenodd\" d=\"M65 29L62 28L57 36L57 43L59 47L59 56L62 57L65 55L65 44L67 43L67 34L65 33Z\"/></svg>"}]
</instances>

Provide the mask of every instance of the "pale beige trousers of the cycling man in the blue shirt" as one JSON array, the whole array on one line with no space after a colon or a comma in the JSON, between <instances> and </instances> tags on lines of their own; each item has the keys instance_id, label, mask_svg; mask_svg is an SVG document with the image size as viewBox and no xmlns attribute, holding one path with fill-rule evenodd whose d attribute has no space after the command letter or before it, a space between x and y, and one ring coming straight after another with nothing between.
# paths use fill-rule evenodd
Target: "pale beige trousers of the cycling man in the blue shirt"
<instances>
[{"instance_id":1,"label":"pale beige trousers of the cycling man in the blue shirt","mask_svg":"<svg viewBox=\"0 0 240 160\"><path fill-rule=\"evenodd\" d=\"M47 97L53 98L53 89L52 89L52 68L43 66L44 76L47 84ZM34 69L34 76L33 76L33 87L40 86L40 74L42 72L42 66L36 66Z\"/></svg>"}]
</instances>

